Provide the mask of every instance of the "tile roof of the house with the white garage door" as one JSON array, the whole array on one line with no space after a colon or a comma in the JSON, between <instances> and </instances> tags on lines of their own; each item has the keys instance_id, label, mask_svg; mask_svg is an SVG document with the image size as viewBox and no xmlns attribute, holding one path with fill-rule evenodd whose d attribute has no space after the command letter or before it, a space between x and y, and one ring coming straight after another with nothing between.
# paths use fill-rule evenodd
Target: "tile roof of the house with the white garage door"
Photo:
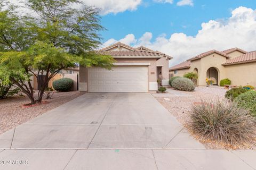
<instances>
[{"instance_id":1,"label":"tile roof of the house with the white garage door","mask_svg":"<svg viewBox=\"0 0 256 170\"><path fill-rule=\"evenodd\" d=\"M130 49L130 50L109 50L111 48L114 48L116 46L123 46L127 49ZM140 48L143 48L143 49L140 49ZM122 57L122 56L149 56L149 57L156 57L156 58L161 58L161 57L168 57L169 59L172 59L171 56L169 55L166 55L164 53L161 53L161 52L157 52L157 51L154 51L154 50L151 50L149 48L146 48L146 47L138 47L138 48L133 48L131 46L128 46L126 44L123 44L123 43L115 43L111 46L108 46L106 48L102 48L100 50L97 51L97 53L99 54L103 54L103 55L111 55L111 56L114 56L114 57Z\"/></svg>"}]
</instances>

